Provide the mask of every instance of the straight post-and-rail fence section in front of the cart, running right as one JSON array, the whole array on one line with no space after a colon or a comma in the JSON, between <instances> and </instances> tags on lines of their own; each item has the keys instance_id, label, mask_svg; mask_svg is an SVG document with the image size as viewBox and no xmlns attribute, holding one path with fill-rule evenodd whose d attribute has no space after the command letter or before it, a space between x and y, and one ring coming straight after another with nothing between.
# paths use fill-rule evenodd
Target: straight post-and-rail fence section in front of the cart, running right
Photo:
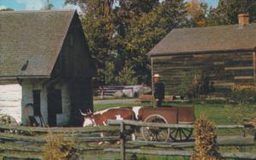
<instances>
[{"instance_id":1,"label":"straight post-and-rail fence section in front of the cart, running right","mask_svg":"<svg viewBox=\"0 0 256 160\"><path fill-rule=\"evenodd\" d=\"M137 126L137 127L152 127L152 128L164 128L164 129L177 129L177 128L187 128L193 129L193 124L166 124L166 123L143 123L131 120L108 120L109 125L119 125L120 128L120 146L119 148L108 148L105 151L112 152L120 152L121 160L125 160L125 154L131 153L133 155L136 154L148 154L148 155L159 155L159 156L182 156L182 157L190 157L193 154L193 151L166 151L165 148L186 148L193 147L194 142L157 142L157 141L128 141L127 136L131 134L129 129L126 129L126 126ZM244 125L218 125L218 129L246 129ZM241 138L241 140L237 140L239 138L235 138L236 142L233 140L219 140L219 146L255 146L256 147L256 135L251 137ZM127 149L126 145L133 144L137 146L153 146L163 148L162 150L143 150L143 149ZM221 157L224 158L240 158L240 159L256 159L256 154L249 152L224 152L221 153Z\"/></svg>"}]
</instances>

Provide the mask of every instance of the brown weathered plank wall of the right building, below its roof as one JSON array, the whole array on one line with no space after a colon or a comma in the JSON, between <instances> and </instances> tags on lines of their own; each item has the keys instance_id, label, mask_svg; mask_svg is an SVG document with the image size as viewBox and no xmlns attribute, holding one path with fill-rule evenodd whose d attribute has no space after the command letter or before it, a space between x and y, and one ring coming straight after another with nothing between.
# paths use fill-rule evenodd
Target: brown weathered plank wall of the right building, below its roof
<instances>
[{"instance_id":1,"label":"brown weathered plank wall of the right building, below its roof","mask_svg":"<svg viewBox=\"0 0 256 160\"><path fill-rule=\"evenodd\" d=\"M217 94L223 94L234 84L254 84L255 81L252 52L153 56L151 60L153 74L163 76L166 94L178 94L183 77L193 70L207 71Z\"/></svg>"}]
</instances>

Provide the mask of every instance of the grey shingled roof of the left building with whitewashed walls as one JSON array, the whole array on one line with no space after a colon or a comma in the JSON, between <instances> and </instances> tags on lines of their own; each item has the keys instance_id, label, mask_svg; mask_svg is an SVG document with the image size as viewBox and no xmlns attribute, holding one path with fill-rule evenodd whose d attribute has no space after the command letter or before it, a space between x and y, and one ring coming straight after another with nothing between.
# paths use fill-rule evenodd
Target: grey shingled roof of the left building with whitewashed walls
<instances>
[{"instance_id":1,"label":"grey shingled roof of the left building with whitewashed walls","mask_svg":"<svg viewBox=\"0 0 256 160\"><path fill-rule=\"evenodd\" d=\"M0 78L49 77L75 13L0 12Z\"/></svg>"}]
</instances>

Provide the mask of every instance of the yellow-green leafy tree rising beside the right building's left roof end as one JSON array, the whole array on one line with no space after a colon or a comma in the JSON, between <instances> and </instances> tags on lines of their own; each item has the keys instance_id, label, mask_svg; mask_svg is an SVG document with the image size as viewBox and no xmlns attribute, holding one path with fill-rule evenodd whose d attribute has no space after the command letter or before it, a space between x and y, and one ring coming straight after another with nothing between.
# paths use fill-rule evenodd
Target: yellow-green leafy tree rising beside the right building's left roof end
<instances>
[{"instance_id":1,"label":"yellow-green leafy tree rising beside the right building's left roof end","mask_svg":"<svg viewBox=\"0 0 256 160\"><path fill-rule=\"evenodd\" d=\"M137 83L151 83L147 53L172 28L184 25L185 3L183 0L166 0L152 4L150 12L141 14L121 8L119 19L119 36L115 44L121 60L129 60L128 65L136 72Z\"/></svg>"}]
</instances>

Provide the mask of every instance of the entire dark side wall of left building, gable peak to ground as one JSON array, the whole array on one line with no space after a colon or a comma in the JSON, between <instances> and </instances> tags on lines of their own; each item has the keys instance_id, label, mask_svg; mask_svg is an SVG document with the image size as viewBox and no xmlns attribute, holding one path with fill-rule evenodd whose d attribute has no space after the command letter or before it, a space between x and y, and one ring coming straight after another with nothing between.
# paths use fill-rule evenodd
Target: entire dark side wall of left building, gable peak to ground
<instances>
[{"instance_id":1,"label":"entire dark side wall of left building, gable peak to ground","mask_svg":"<svg viewBox=\"0 0 256 160\"><path fill-rule=\"evenodd\" d=\"M74 14L73 20L64 39L61 54L55 64L52 77L67 83L71 99L72 126L82 126L84 117L80 111L93 110L91 76L92 62L79 15Z\"/></svg>"}]
</instances>

